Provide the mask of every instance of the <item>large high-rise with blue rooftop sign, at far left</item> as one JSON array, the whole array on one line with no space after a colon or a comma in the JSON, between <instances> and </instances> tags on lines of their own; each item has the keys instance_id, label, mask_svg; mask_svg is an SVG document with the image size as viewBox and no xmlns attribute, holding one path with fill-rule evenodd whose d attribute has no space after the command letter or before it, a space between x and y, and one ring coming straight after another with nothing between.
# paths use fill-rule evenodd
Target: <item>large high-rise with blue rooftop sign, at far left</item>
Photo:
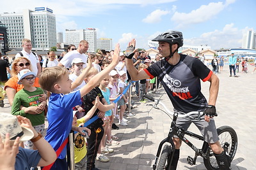
<instances>
[{"instance_id":1,"label":"large high-rise with blue rooftop sign, at far left","mask_svg":"<svg viewBox=\"0 0 256 170\"><path fill-rule=\"evenodd\" d=\"M0 21L6 25L9 48L21 48L24 38L31 39L34 50L48 50L56 46L56 19L49 8L23 10L22 13L2 13Z\"/></svg>"}]
</instances>

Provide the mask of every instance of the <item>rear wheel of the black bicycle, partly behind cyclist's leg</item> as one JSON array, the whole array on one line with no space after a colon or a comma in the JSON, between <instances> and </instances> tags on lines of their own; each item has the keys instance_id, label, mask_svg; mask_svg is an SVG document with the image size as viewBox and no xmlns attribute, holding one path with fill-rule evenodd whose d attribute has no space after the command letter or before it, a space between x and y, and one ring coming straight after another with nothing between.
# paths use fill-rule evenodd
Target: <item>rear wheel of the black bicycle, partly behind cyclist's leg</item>
<instances>
[{"instance_id":1,"label":"rear wheel of the black bicycle, partly behind cyclist's leg","mask_svg":"<svg viewBox=\"0 0 256 170\"><path fill-rule=\"evenodd\" d=\"M221 126L217 129L218 136L220 138L220 145L228 153L231 161L234 159L237 150L237 134L236 131L229 126ZM207 159L204 159L204 165L208 170L220 169L216 158L207 144Z\"/></svg>"}]
</instances>

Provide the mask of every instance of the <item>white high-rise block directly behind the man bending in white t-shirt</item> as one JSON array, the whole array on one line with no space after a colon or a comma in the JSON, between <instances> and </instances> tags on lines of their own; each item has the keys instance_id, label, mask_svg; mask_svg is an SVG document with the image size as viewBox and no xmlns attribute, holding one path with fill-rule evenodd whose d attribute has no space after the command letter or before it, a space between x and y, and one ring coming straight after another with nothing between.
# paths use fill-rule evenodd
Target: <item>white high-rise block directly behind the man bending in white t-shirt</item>
<instances>
[{"instance_id":1,"label":"white high-rise block directly behind the man bending in white t-shirt","mask_svg":"<svg viewBox=\"0 0 256 170\"><path fill-rule=\"evenodd\" d=\"M65 35L65 43L78 46L79 42L84 39L89 43L88 52L97 51L96 29L66 29Z\"/></svg>"}]
</instances>

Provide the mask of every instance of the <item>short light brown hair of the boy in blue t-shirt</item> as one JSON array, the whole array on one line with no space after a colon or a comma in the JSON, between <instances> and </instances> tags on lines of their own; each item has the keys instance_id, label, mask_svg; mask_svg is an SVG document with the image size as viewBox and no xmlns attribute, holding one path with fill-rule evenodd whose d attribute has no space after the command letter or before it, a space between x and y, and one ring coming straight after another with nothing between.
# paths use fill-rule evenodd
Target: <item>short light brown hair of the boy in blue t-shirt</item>
<instances>
[{"instance_id":1,"label":"short light brown hair of the boy in blue t-shirt","mask_svg":"<svg viewBox=\"0 0 256 170\"><path fill-rule=\"evenodd\" d=\"M65 74L68 74L68 71L65 69L65 67L55 66L45 68L44 71L40 74L40 87L49 92L54 92L54 85L61 81L61 78L63 78Z\"/></svg>"}]
</instances>

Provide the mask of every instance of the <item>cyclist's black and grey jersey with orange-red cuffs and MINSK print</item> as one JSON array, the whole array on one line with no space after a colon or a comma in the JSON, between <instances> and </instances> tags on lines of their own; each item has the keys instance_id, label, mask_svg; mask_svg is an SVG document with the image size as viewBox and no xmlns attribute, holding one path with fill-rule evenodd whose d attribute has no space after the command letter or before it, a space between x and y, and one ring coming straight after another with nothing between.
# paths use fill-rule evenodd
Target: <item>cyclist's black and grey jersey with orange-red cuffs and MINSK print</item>
<instances>
[{"instance_id":1,"label":"cyclist's black and grey jersey with orange-red cuffs and MINSK print","mask_svg":"<svg viewBox=\"0 0 256 170\"><path fill-rule=\"evenodd\" d=\"M157 76L177 111L203 111L207 100L201 92L202 81L211 78L212 71L200 60L180 54L176 65L160 60L144 69L150 78Z\"/></svg>"}]
</instances>

